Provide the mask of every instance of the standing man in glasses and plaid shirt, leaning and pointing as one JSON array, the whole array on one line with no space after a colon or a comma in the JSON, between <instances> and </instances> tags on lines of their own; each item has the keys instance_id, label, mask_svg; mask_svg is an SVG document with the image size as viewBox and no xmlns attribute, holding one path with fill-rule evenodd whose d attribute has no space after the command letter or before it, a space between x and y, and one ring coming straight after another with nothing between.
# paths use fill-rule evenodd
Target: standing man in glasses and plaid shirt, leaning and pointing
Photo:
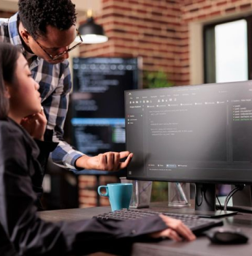
<instances>
[{"instance_id":1,"label":"standing man in glasses and plaid shirt, leaning and pointing","mask_svg":"<svg viewBox=\"0 0 252 256\"><path fill-rule=\"evenodd\" d=\"M10 42L23 51L34 80L39 83L47 117L45 138L58 142L53 162L72 169L120 170L133 154L107 152L88 157L63 139L63 127L72 89L69 51L81 40L76 28L75 4L70 0L19 0L18 13L0 19L0 42ZM120 159L125 158L124 162Z\"/></svg>"}]
</instances>

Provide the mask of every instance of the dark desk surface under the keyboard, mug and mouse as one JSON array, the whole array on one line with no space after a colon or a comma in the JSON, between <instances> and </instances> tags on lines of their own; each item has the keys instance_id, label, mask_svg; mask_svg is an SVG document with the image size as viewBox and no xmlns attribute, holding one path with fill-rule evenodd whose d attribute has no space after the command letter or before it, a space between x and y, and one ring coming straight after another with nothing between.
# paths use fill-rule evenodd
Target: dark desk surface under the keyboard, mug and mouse
<instances>
[{"instance_id":1,"label":"dark desk surface under the keyboard, mug and mouse","mask_svg":"<svg viewBox=\"0 0 252 256\"><path fill-rule=\"evenodd\" d=\"M159 207L156 203L151 208ZM166 208L169 211L170 208ZM76 208L56 211L41 211L39 217L50 222L74 221L80 219L91 219L94 215L110 211L110 207ZM133 256L246 256L252 251L252 214L237 214L224 219L224 225L229 227L240 227L250 238L247 244L240 245L215 245L205 237L201 236L193 242L161 241L159 243L136 243L133 245Z\"/></svg>"}]
</instances>

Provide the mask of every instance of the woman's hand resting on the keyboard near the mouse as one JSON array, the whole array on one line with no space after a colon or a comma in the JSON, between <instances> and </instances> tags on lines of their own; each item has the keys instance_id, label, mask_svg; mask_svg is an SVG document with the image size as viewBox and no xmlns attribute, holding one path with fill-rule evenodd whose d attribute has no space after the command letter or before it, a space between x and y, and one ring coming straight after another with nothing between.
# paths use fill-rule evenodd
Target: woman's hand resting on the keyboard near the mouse
<instances>
[{"instance_id":1,"label":"woman's hand resting on the keyboard near the mouse","mask_svg":"<svg viewBox=\"0 0 252 256\"><path fill-rule=\"evenodd\" d=\"M150 234L151 238L171 238L175 241L183 241L183 238L186 238L188 241L194 241L196 236L191 232L191 230L183 224L178 219L172 219L170 217L160 215L161 219L168 226L166 230Z\"/></svg>"}]
</instances>

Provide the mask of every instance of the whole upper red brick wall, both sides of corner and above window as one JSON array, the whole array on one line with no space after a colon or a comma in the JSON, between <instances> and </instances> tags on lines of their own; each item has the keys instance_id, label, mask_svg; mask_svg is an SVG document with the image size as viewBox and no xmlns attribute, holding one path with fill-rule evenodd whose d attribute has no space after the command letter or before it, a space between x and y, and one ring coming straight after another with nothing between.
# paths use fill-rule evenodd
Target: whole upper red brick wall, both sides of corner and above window
<instances>
[{"instance_id":1,"label":"whole upper red brick wall, both sides of corner and above window","mask_svg":"<svg viewBox=\"0 0 252 256\"><path fill-rule=\"evenodd\" d=\"M144 70L163 70L175 85L190 83L188 24L252 12L251 0L102 0L96 22L109 41L81 55L142 56Z\"/></svg>"}]
</instances>

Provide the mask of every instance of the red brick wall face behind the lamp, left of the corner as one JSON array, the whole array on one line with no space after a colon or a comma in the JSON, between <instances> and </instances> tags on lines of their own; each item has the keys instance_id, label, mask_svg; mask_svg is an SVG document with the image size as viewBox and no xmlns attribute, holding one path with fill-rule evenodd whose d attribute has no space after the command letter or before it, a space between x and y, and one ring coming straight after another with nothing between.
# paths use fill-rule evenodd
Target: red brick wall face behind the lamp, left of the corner
<instances>
[{"instance_id":1,"label":"red brick wall face behind the lamp, left of the corner","mask_svg":"<svg viewBox=\"0 0 252 256\"><path fill-rule=\"evenodd\" d=\"M182 82L175 72L183 61L178 1L103 0L96 22L102 23L109 41L83 46L83 56L142 56L143 69L162 69L171 80Z\"/></svg>"}]
</instances>

